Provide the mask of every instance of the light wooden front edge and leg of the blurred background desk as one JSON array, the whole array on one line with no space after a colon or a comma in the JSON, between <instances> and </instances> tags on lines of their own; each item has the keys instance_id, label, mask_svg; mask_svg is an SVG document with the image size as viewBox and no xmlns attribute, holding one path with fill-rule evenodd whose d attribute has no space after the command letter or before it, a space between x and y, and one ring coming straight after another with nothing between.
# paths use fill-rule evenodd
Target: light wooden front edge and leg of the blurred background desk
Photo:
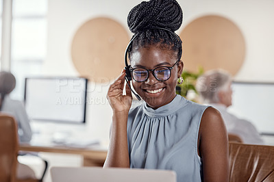
<instances>
[{"instance_id":1,"label":"light wooden front edge and leg of the blurred background desk","mask_svg":"<svg viewBox=\"0 0 274 182\"><path fill-rule=\"evenodd\" d=\"M92 148L72 148L69 146L34 146L21 144L19 151L82 155L84 158L84 166L103 166L103 162L107 156L107 149L100 146L94 146Z\"/></svg>"}]
</instances>

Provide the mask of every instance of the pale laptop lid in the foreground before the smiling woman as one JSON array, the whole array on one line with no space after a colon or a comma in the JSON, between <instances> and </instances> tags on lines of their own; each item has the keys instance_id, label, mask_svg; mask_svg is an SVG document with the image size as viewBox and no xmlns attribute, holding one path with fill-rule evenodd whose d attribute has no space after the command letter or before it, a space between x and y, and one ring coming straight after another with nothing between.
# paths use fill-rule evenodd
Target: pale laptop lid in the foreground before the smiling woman
<instances>
[{"instance_id":1,"label":"pale laptop lid in the foreground before the smiling woman","mask_svg":"<svg viewBox=\"0 0 274 182\"><path fill-rule=\"evenodd\" d=\"M176 182L172 170L99 167L52 167L52 182Z\"/></svg>"}]
</instances>

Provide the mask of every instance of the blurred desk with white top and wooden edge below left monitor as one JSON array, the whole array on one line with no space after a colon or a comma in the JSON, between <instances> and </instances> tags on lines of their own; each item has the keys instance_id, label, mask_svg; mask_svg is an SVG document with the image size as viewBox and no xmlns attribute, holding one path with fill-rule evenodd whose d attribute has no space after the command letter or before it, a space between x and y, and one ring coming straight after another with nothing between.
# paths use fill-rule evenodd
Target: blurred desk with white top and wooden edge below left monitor
<instances>
[{"instance_id":1,"label":"blurred desk with white top and wooden edge below left monitor","mask_svg":"<svg viewBox=\"0 0 274 182\"><path fill-rule=\"evenodd\" d=\"M53 122L32 122L34 131L29 143L20 144L18 151L79 155L83 166L103 166L108 143L92 138L85 125L64 125ZM55 159L56 160L56 159ZM70 159L68 159L70 160Z\"/></svg>"}]
</instances>

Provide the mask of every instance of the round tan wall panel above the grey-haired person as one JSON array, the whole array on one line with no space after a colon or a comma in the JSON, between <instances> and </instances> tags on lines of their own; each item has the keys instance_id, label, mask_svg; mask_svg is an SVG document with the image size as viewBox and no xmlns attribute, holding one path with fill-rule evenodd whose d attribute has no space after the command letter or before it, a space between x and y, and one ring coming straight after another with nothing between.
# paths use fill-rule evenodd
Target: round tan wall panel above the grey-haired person
<instances>
[{"instance_id":1,"label":"round tan wall panel above the grey-haired person","mask_svg":"<svg viewBox=\"0 0 274 182\"><path fill-rule=\"evenodd\" d=\"M182 30L186 70L223 68L236 75L245 60L245 39L232 21L221 16L197 18Z\"/></svg>"}]
</instances>

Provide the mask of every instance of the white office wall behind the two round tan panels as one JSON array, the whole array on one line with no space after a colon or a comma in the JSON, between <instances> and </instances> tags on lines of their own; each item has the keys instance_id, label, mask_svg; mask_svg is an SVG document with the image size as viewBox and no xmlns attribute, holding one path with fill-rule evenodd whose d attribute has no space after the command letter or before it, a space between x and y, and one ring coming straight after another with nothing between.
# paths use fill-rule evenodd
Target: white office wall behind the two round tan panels
<instances>
[{"instance_id":1,"label":"white office wall behind the two round tan panels","mask_svg":"<svg viewBox=\"0 0 274 182\"><path fill-rule=\"evenodd\" d=\"M274 82L274 1L271 0L179 0L184 23L178 33L195 18L208 14L233 21L246 41L245 62L237 73L238 81ZM71 41L77 28L90 18L107 16L127 29L127 14L138 0L49 0L48 53L46 75L78 75L71 61ZM128 34L130 32L128 31ZM123 62L123 60L121 60ZM117 75L118 76L118 75ZM115 75L114 75L115 77ZM108 83L90 83L88 128L90 137L108 141L112 112L105 94Z\"/></svg>"}]
</instances>

